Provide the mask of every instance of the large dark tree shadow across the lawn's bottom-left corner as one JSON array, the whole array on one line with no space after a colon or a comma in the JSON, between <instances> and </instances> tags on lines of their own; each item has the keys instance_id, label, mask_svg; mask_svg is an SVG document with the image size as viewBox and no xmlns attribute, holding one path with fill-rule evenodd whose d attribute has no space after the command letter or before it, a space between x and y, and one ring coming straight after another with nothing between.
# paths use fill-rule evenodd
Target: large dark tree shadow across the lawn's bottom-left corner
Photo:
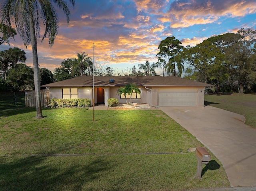
<instances>
[{"instance_id":1,"label":"large dark tree shadow across the lawn's bottom-left corner","mask_svg":"<svg viewBox=\"0 0 256 191\"><path fill-rule=\"evenodd\" d=\"M29 156L26 158L0 157L0 185L3 190L82 190L88 182L97 179L109 165L95 157L72 163L70 158ZM63 157L62 157L63 158ZM54 165L53 165L54 164ZM108 167L106 167L108 166Z\"/></svg>"}]
</instances>

